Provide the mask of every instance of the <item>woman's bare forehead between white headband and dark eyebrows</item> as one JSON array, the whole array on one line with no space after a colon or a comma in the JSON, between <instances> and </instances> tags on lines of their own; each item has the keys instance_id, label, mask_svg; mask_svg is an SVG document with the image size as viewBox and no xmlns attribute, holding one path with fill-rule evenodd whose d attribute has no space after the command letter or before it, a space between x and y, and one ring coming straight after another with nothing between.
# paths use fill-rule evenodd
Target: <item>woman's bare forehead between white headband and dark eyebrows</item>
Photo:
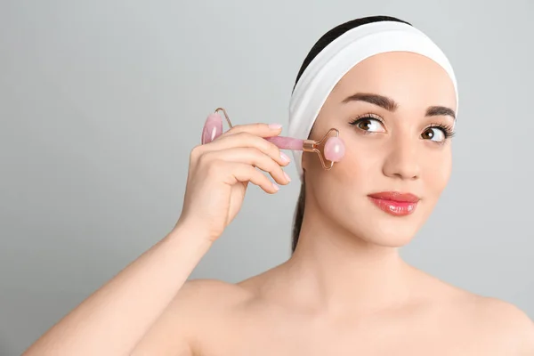
<instances>
[{"instance_id":1,"label":"woman's bare forehead between white headband and dark eyebrows","mask_svg":"<svg viewBox=\"0 0 534 356\"><path fill-rule=\"evenodd\" d=\"M380 53L360 61L337 83L329 100L343 101L353 93L391 97L401 107L457 107L452 80L435 61L417 53Z\"/></svg>"}]
</instances>

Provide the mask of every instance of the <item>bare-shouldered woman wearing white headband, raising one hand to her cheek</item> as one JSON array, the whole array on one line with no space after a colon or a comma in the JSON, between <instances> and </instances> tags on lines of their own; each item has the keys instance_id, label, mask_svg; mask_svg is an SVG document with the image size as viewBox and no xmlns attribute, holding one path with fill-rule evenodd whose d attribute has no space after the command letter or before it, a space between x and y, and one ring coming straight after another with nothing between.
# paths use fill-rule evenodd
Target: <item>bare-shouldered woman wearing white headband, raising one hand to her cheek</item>
<instances>
[{"instance_id":1,"label":"bare-shouldered woman wearing white headband, raising one hand to her cheek","mask_svg":"<svg viewBox=\"0 0 534 356\"><path fill-rule=\"evenodd\" d=\"M330 171L295 154L303 190L286 263L236 285L186 282L238 214L248 182L279 190L255 167L289 181L289 158L262 138L279 125L236 126L192 150L174 230L25 355L534 354L523 312L398 253L449 180L457 113L448 61L416 32L390 17L352 20L304 61L289 131L319 139L336 127L346 150ZM344 41L357 45L336 53ZM357 58L371 47L375 54Z\"/></svg>"}]
</instances>

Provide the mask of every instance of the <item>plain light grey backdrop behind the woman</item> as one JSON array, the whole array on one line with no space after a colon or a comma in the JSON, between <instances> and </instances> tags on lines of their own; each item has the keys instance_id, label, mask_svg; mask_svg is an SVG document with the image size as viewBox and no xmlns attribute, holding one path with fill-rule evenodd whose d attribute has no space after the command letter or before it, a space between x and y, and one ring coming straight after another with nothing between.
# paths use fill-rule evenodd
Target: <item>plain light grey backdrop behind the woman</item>
<instances>
[{"instance_id":1,"label":"plain light grey backdrop behind the woman","mask_svg":"<svg viewBox=\"0 0 534 356\"><path fill-rule=\"evenodd\" d=\"M173 227L207 114L286 124L312 44L372 14L424 30L460 89L449 187L402 255L534 317L534 4L492 3L2 0L0 354ZM275 196L250 189L192 278L235 282L287 259L289 174Z\"/></svg>"}]
</instances>

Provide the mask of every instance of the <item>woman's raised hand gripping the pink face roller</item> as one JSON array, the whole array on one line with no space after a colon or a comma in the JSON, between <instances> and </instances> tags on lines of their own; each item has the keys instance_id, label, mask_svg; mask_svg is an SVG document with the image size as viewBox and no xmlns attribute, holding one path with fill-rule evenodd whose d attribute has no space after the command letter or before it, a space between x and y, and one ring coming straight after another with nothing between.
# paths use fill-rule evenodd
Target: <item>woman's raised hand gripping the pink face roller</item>
<instances>
[{"instance_id":1,"label":"woman's raised hand gripping the pink face roller","mask_svg":"<svg viewBox=\"0 0 534 356\"><path fill-rule=\"evenodd\" d=\"M178 223L198 226L211 241L218 239L238 214L248 182L267 193L290 180L282 170L289 158L263 137L277 136L279 125L236 125L213 142L198 145L190 153L190 167ZM257 169L259 168L259 169Z\"/></svg>"}]
</instances>

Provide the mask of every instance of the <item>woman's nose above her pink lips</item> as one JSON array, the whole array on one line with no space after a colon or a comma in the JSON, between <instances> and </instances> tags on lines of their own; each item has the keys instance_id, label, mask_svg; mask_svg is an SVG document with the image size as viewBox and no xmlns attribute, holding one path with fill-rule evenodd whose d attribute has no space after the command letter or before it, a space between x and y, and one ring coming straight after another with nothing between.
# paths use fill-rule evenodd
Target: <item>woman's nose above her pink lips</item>
<instances>
[{"instance_id":1,"label":"woman's nose above her pink lips","mask_svg":"<svg viewBox=\"0 0 534 356\"><path fill-rule=\"evenodd\" d=\"M398 137L392 140L384 160L384 175L403 180L419 178L421 171L417 157L417 142L413 137Z\"/></svg>"}]
</instances>

